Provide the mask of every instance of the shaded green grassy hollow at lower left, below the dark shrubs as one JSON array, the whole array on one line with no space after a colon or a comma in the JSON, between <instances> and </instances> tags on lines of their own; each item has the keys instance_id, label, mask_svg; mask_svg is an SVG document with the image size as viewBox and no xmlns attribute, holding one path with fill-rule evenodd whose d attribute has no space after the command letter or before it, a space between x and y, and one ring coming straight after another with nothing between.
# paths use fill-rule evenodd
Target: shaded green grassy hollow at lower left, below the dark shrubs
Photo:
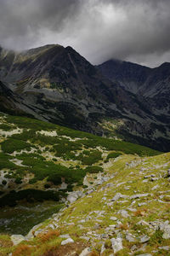
<instances>
[{"instance_id":1,"label":"shaded green grassy hollow at lower left, below the dark shrubs","mask_svg":"<svg viewBox=\"0 0 170 256\"><path fill-rule=\"evenodd\" d=\"M0 212L0 220L2 222L3 219L5 219L6 224L0 225L0 233L8 233L10 235L21 234L26 236L33 226L42 221L45 221L47 224L47 219L54 213L59 212L61 207L63 207L63 204L57 201L43 201L41 203L39 201L31 203L25 201L16 207L4 207ZM2 236L0 236L0 243L1 238ZM10 241L10 236L8 240ZM8 247L8 245L6 245L6 247ZM1 248L2 247L0 247L0 255Z\"/></svg>"}]
</instances>

